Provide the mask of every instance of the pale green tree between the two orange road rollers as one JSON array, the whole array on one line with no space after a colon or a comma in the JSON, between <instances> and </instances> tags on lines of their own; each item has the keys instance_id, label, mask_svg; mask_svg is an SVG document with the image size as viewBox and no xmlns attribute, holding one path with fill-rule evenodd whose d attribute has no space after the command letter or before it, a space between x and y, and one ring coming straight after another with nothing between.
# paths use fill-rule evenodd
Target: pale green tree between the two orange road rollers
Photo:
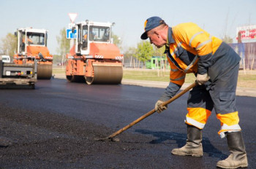
<instances>
[{"instance_id":1,"label":"pale green tree between the two orange road rollers","mask_svg":"<svg viewBox=\"0 0 256 169\"><path fill-rule=\"evenodd\" d=\"M56 36L56 39L59 44L57 52L59 55L63 56L69 52L70 39L66 38L66 28L62 28L61 31L59 31L59 36Z\"/></svg>"}]
</instances>

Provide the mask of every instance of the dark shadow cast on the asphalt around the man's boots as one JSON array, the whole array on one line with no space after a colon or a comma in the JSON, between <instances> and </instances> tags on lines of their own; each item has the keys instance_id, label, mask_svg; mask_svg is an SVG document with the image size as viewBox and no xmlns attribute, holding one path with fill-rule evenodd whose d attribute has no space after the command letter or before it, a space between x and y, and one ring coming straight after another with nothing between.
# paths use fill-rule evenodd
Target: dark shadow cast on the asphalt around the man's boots
<instances>
[{"instance_id":1,"label":"dark shadow cast on the asphalt around the man's boots","mask_svg":"<svg viewBox=\"0 0 256 169\"><path fill-rule=\"evenodd\" d=\"M175 132L161 132L161 131L151 131L151 130L135 130L137 133L144 135L153 135L156 139L149 142L149 144L162 144L165 141L176 141L178 148L184 146L187 140L187 134L175 133ZM203 152L208 154L208 157L215 157L220 160L227 158L227 154L223 154L214 145L211 144L208 138L203 137Z\"/></svg>"}]
</instances>

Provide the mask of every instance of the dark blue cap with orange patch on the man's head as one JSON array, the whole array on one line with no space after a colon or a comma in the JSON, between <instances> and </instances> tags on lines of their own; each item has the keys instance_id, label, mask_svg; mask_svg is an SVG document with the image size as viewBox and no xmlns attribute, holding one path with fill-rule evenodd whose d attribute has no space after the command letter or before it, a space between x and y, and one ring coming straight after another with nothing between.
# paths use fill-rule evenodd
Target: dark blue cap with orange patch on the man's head
<instances>
[{"instance_id":1,"label":"dark blue cap with orange patch on the man's head","mask_svg":"<svg viewBox=\"0 0 256 169\"><path fill-rule=\"evenodd\" d=\"M148 39L147 32L163 23L165 23L165 21L162 20L161 17L149 17L144 23L145 32L140 36L140 39Z\"/></svg>"}]
</instances>

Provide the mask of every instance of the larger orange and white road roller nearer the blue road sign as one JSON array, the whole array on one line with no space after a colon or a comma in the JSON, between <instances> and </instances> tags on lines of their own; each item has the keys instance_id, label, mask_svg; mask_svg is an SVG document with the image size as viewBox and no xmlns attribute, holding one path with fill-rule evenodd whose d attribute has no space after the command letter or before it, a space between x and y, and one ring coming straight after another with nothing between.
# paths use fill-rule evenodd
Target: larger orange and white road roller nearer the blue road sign
<instances>
[{"instance_id":1,"label":"larger orange and white road roller nearer the blue road sign","mask_svg":"<svg viewBox=\"0 0 256 169\"><path fill-rule=\"evenodd\" d=\"M89 20L72 25L70 34L75 38L70 40L72 47L67 54L67 81L121 84L124 55L112 43L113 25Z\"/></svg>"}]
</instances>

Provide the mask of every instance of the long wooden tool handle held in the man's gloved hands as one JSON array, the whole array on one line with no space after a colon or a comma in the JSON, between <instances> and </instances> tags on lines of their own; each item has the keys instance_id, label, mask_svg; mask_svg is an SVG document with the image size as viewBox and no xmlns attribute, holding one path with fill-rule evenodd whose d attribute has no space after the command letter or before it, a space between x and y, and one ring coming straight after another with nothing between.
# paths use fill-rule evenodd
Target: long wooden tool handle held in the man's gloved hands
<instances>
[{"instance_id":1,"label":"long wooden tool handle held in the man's gloved hands","mask_svg":"<svg viewBox=\"0 0 256 169\"><path fill-rule=\"evenodd\" d=\"M175 101L177 98L181 97L181 95L184 95L185 93L187 93L187 91L191 90L193 87L195 87L197 85L197 82L194 82L192 84L189 85L189 87L187 87L186 89L182 90L180 93L178 93L177 95L174 95L173 98L170 98L170 100L165 101L164 103L162 103L162 106L165 106L173 101ZM125 130L127 130L129 127L132 127L133 125L136 125L138 122L140 122L143 119L146 119L146 117L149 117L151 114L154 114L154 112L156 112L154 109L152 109L151 111L148 111L148 113L144 114L142 117L135 119L135 121L131 122L129 125L121 128L120 130L116 131L115 133L109 135L107 138L105 139L110 139L115 137L116 135L119 135L120 133L124 132Z\"/></svg>"}]
</instances>

